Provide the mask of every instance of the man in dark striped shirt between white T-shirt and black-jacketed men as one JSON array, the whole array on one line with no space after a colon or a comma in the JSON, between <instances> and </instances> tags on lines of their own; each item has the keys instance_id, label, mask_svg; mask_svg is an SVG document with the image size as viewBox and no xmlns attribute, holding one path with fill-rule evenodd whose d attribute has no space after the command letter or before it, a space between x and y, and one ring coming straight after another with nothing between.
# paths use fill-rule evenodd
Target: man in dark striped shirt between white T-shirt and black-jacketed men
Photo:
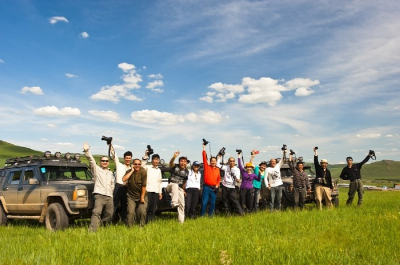
<instances>
[{"instance_id":1,"label":"man in dark striped shirt between white T-shirt and black-jacketed men","mask_svg":"<svg viewBox=\"0 0 400 265\"><path fill-rule=\"evenodd\" d=\"M303 171L304 164L302 161L298 161L296 164L296 168L294 167L294 162L292 160L292 154L289 155L289 167L291 173L293 174L293 200L294 200L294 208L300 208L300 210L304 207L304 201L307 192L311 192L311 185L309 185L308 175Z\"/></svg>"}]
</instances>

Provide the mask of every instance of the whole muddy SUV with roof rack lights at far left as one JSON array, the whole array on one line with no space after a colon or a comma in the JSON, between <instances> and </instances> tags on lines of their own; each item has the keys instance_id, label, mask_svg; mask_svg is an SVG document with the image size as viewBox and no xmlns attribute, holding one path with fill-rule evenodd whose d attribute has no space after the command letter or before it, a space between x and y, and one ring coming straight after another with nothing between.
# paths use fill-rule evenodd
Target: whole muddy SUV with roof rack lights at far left
<instances>
[{"instance_id":1,"label":"whole muddy SUV with roof rack lights at far left","mask_svg":"<svg viewBox=\"0 0 400 265\"><path fill-rule=\"evenodd\" d=\"M66 153L11 158L0 169L0 225L38 220L51 231L90 218L94 183L86 164Z\"/></svg>"}]
</instances>

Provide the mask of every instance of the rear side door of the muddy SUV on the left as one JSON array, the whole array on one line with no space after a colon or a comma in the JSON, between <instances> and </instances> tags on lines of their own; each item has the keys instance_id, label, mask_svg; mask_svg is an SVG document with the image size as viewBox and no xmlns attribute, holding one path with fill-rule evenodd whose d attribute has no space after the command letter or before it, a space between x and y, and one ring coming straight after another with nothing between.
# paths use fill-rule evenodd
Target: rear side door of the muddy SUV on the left
<instances>
[{"instance_id":1,"label":"rear side door of the muddy SUV on the left","mask_svg":"<svg viewBox=\"0 0 400 265\"><path fill-rule=\"evenodd\" d=\"M3 186L2 195L9 214L16 213L18 209L18 188L21 177L22 169L11 169Z\"/></svg>"}]
</instances>

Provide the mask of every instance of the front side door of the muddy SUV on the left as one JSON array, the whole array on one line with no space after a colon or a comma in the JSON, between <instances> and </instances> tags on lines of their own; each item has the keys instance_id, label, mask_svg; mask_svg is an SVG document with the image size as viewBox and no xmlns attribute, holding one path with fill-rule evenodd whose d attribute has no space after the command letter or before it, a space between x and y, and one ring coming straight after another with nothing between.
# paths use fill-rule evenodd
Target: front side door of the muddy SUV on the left
<instances>
[{"instance_id":1,"label":"front side door of the muddy SUV on the left","mask_svg":"<svg viewBox=\"0 0 400 265\"><path fill-rule=\"evenodd\" d=\"M26 168L18 188L18 212L26 215L40 214L43 206L41 185L36 168Z\"/></svg>"}]
</instances>

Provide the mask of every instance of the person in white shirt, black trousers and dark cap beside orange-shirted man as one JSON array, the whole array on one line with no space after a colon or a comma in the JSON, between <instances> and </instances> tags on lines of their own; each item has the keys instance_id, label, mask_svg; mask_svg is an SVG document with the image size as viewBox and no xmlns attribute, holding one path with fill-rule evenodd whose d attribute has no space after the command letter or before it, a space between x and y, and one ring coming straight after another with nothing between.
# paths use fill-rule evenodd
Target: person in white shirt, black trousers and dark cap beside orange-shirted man
<instances>
[{"instance_id":1,"label":"person in white shirt, black trousers and dark cap beside orange-shirted man","mask_svg":"<svg viewBox=\"0 0 400 265\"><path fill-rule=\"evenodd\" d=\"M196 207L198 203L198 196L200 194L200 180L201 173L198 171L200 163L194 161L191 164L191 170L187 176L185 197L184 197L184 216L185 218L196 217Z\"/></svg>"}]
</instances>

